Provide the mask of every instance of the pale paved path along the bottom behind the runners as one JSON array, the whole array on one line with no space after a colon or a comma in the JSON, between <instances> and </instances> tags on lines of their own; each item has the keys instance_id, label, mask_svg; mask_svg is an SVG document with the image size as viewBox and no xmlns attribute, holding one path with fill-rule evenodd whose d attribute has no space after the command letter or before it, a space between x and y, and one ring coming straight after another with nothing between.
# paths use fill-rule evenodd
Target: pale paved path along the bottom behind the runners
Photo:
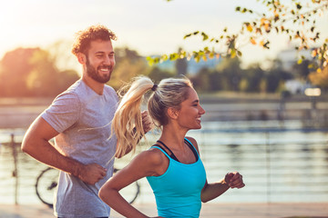
<instances>
[{"instance_id":1,"label":"pale paved path along the bottom behind the runners","mask_svg":"<svg viewBox=\"0 0 328 218\"><path fill-rule=\"evenodd\" d=\"M154 204L137 204L140 211L156 215ZM42 204L0 204L0 218L54 218ZM122 217L112 211L110 218ZM204 218L328 218L328 203L204 203Z\"/></svg>"}]
</instances>

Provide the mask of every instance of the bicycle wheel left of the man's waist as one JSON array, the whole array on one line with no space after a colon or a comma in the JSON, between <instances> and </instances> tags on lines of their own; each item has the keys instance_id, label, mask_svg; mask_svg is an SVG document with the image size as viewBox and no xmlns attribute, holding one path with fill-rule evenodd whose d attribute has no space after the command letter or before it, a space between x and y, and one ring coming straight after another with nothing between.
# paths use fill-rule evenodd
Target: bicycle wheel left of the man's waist
<instances>
[{"instance_id":1,"label":"bicycle wheel left of the man's waist","mask_svg":"<svg viewBox=\"0 0 328 218\"><path fill-rule=\"evenodd\" d=\"M36 195L49 207L53 207L54 192L58 181L58 171L48 167L36 178Z\"/></svg>"}]
</instances>

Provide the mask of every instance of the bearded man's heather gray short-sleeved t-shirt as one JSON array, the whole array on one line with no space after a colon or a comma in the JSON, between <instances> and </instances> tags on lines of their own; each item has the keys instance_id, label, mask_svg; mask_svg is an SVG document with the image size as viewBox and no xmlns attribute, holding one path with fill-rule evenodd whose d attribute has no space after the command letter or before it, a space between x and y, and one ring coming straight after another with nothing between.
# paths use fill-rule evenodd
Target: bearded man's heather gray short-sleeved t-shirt
<instances>
[{"instance_id":1,"label":"bearded man's heather gray short-sleeved t-shirt","mask_svg":"<svg viewBox=\"0 0 328 218\"><path fill-rule=\"evenodd\" d=\"M90 218L109 216L110 208L97 193L113 174L117 139L110 136L110 122L118 106L118 95L108 85L99 95L78 80L42 114L59 134L56 149L81 163L97 163L108 169L107 176L95 185L60 172L55 194L55 215Z\"/></svg>"}]
</instances>

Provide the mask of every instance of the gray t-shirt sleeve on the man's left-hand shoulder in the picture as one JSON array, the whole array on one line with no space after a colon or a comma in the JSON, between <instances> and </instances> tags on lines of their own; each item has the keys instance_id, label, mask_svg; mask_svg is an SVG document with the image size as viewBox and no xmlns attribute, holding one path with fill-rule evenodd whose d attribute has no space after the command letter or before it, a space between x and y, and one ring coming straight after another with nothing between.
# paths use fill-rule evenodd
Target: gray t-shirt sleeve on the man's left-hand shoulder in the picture
<instances>
[{"instance_id":1,"label":"gray t-shirt sleeve on the man's left-hand shoulder in the picture","mask_svg":"<svg viewBox=\"0 0 328 218\"><path fill-rule=\"evenodd\" d=\"M77 94L64 93L56 97L54 102L41 114L58 133L62 133L77 123L81 104Z\"/></svg>"}]
</instances>

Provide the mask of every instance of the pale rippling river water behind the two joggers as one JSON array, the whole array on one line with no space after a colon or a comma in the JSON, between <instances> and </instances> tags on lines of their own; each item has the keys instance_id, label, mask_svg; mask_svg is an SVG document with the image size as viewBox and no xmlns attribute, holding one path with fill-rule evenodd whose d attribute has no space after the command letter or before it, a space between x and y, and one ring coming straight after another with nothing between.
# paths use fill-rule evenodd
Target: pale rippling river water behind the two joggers
<instances>
[{"instance_id":1,"label":"pale rippling river water behind the two joggers","mask_svg":"<svg viewBox=\"0 0 328 218\"><path fill-rule=\"evenodd\" d=\"M10 134L20 142L25 130L1 130L0 203L15 202L15 177ZM302 129L299 121L205 122L202 129L190 131L200 144L200 155L209 182L226 173L242 173L246 187L230 190L215 202L328 202L328 130ZM159 135L148 134L148 144ZM138 150L145 150L143 145ZM35 183L46 166L18 153L18 203L40 203ZM138 151L138 152L139 152ZM118 160L121 168L131 155ZM154 202L145 179L140 181L138 203Z\"/></svg>"}]
</instances>

